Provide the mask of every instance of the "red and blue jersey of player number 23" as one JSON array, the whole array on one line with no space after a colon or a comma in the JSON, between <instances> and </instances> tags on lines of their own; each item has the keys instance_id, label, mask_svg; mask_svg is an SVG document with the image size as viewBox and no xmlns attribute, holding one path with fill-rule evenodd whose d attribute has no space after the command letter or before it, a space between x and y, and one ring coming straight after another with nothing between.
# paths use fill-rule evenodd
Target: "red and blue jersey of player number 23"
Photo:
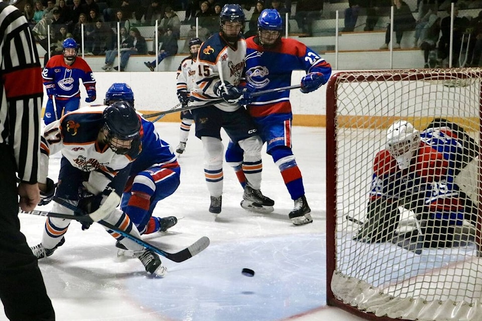
<instances>
[{"instance_id":1,"label":"red and blue jersey of player number 23","mask_svg":"<svg viewBox=\"0 0 482 321\"><path fill-rule=\"evenodd\" d=\"M246 40L246 82L257 90L268 90L291 85L293 70L306 73L320 72L326 83L331 75L331 66L303 43L281 38L272 48L264 48L258 37ZM277 117L280 120L292 118L290 91L272 92L253 97L248 110L253 117Z\"/></svg>"}]
</instances>

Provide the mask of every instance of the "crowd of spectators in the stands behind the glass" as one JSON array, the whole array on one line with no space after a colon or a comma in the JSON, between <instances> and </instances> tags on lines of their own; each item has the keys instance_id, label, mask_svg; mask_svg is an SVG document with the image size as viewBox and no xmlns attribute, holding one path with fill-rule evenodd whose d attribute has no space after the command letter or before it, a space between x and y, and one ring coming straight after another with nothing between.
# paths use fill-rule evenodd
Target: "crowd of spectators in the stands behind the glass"
<instances>
[{"instance_id":1,"label":"crowd of spectators in the stands behind the glass","mask_svg":"<svg viewBox=\"0 0 482 321\"><path fill-rule=\"evenodd\" d=\"M60 44L65 38L74 38L83 43L85 55L106 55L110 62L117 55L117 23L125 29L128 37L139 33L139 26L154 26L158 22L159 42L147 48L151 55L159 55L162 44L165 56L187 53L187 44L192 37L202 41L219 30L219 12L229 1L221 0L24 0L23 12L29 21L37 42L47 52L46 56L61 54ZM325 0L328 3L328 0ZM393 48L399 49L404 33L414 32L413 48L423 52L425 67L448 66L450 42L450 9L454 10L454 40L452 66L479 66L482 53L482 12L475 17L459 16L459 10L482 9L482 0L349 0L342 13L341 32L386 30L385 43L381 50L388 49L392 35L390 24L381 24L383 17L390 17L394 6ZM276 9L286 24L285 17L296 22L300 36L315 36L314 23L329 19L323 15L323 0L244 0L237 1L249 12L245 36L257 33L257 19L263 9ZM416 8L414 8L416 7ZM293 12L292 12L293 10ZM184 15L178 15L184 13ZM183 18L180 18L183 17ZM358 17L364 17L358 19ZM198 26L196 26L196 21ZM386 20L385 20L386 21ZM50 25L50 47L47 26ZM83 25L83 42L82 26ZM189 25L186 35L181 35L181 25ZM197 29L196 29L197 27ZM286 27L286 25L285 25ZM363 29L362 29L363 27ZM134 33L131 34L131 29ZM168 32L169 31L169 32ZM137 36L141 42L140 34ZM184 46L177 46L184 40ZM124 42L124 45L126 43ZM132 49L132 50L127 50ZM123 55L146 54L135 46L126 48ZM462 53L462 56L460 55ZM107 55L109 57L107 57ZM109 58L109 59L107 59ZM128 59L128 58L127 58ZM125 59L126 60L126 59ZM124 68L122 68L124 69ZM109 70L109 68L106 68Z\"/></svg>"}]
</instances>

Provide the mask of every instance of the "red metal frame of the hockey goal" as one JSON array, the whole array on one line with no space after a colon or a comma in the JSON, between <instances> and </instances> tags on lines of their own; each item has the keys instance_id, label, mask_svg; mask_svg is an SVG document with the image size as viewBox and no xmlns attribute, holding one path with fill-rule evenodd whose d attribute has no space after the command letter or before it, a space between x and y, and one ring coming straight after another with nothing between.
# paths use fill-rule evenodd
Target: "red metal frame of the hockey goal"
<instances>
[{"instance_id":1,"label":"red metal frame of the hockey goal","mask_svg":"<svg viewBox=\"0 0 482 321\"><path fill-rule=\"evenodd\" d=\"M326 89L326 299L327 304L341 308L351 314L367 320L390 321L395 320L388 316L377 316L373 312L358 309L338 300L331 289L331 280L336 270L336 226L337 226L337 99L338 79L343 76L346 82L374 82L374 81L420 81L430 80L453 82L454 77L463 82L467 77L482 78L482 69L454 68L454 69L409 69L409 70L373 70L373 71L344 71L331 76ZM446 73L450 72L450 75ZM445 73L445 74L444 74ZM454 86L457 84L454 83ZM482 120L482 82L479 86L479 119ZM482 133L482 121L479 123L479 132ZM482 135L479 136L479 146L482 146ZM334 155L334 156L333 156ZM479 169L481 164L479 161ZM478 195L482 195L482 172L478 174ZM478 211L482 213L482 202L478 202ZM475 242L480 249L482 244L482 216L478 216L476 224ZM397 318L396 320L406 320ZM408 320L407 320L408 321Z\"/></svg>"}]
</instances>

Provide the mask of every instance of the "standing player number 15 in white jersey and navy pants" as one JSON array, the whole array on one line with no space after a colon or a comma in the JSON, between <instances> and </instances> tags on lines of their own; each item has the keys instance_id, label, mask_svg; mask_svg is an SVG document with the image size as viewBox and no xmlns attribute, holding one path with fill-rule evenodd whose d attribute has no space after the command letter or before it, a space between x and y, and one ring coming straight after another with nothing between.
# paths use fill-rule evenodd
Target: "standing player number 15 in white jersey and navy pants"
<instances>
[{"instance_id":1,"label":"standing player number 15 in white jersey and navy pants","mask_svg":"<svg viewBox=\"0 0 482 321\"><path fill-rule=\"evenodd\" d=\"M243 198L260 206L274 205L260 190L263 142L250 115L239 104L242 92L236 87L245 66L245 14L239 5L225 5L219 18L220 32L209 37L199 50L195 86L188 103L206 105L192 113L196 137L204 148L204 177L211 197L209 212L215 215L221 212L223 184L221 127L243 149L242 166L247 178Z\"/></svg>"}]
</instances>

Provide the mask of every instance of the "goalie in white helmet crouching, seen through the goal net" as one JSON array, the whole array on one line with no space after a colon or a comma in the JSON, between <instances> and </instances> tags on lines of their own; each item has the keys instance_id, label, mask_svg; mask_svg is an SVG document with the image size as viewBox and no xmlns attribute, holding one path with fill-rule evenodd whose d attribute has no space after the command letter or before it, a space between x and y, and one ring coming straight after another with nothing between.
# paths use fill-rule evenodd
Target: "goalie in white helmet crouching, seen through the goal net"
<instances>
[{"instance_id":1,"label":"goalie in white helmet crouching, seen through the goal net","mask_svg":"<svg viewBox=\"0 0 482 321\"><path fill-rule=\"evenodd\" d=\"M477 150L462 127L445 119L434 119L421 132L404 120L392 124L387 148L375 157L366 220L353 240L400 242L403 234L395 231L401 206L417 221L405 240L418 238L423 247L452 246L455 226L464 219L476 224L477 208L456 182Z\"/></svg>"}]
</instances>

